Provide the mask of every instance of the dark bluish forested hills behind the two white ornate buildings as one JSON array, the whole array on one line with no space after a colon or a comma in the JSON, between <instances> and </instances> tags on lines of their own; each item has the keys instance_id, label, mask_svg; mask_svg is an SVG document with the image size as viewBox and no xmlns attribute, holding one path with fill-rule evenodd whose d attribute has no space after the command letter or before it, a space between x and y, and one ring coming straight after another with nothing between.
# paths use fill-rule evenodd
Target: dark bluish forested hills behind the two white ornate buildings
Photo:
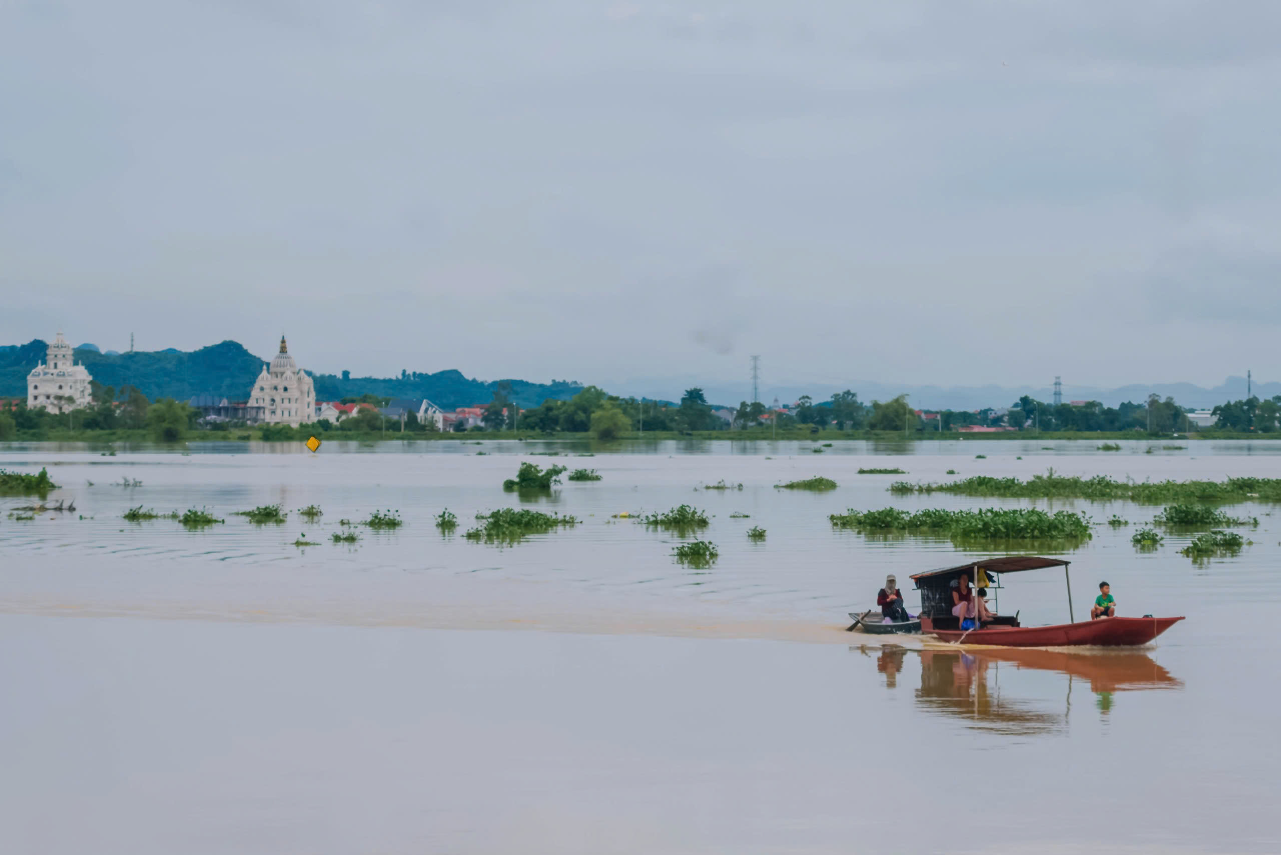
<instances>
[{"instance_id":1,"label":"dark bluish forested hills behind the two white ornate buildings","mask_svg":"<svg viewBox=\"0 0 1281 855\"><path fill-rule=\"evenodd\" d=\"M49 344L40 339L27 344L0 346L0 397L27 396L27 374L45 358ZM154 351L133 353L100 353L92 348L76 348L76 361L83 362L94 379L102 385L137 387L142 394L186 401L197 394L245 401L250 387L263 370L264 360L254 356L238 342L222 342L190 353ZM305 366L304 366L305 367ZM400 378L348 378L333 374L313 375L316 401L361 396L366 392L395 398L429 398L446 410L488 403L497 381L471 380L456 370L436 374L404 374ZM557 380L550 384L507 380L511 397L521 407L534 407L547 398L567 399L582 387Z\"/></svg>"}]
</instances>

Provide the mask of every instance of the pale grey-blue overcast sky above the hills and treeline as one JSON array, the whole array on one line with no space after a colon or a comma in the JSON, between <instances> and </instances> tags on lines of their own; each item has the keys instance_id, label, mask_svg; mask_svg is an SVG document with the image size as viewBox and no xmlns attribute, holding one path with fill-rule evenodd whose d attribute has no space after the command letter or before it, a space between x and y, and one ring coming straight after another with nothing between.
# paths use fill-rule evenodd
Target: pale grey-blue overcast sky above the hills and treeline
<instances>
[{"instance_id":1,"label":"pale grey-blue overcast sky above the hills and treeline","mask_svg":"<svg viewBox=\"0 0 1281 855\"><path fill-rule=\"evenodd\" d=\"M283 332L318 371L649 394L751 353L772 383L1276 379L1278 24L0 0L0 343Z\"/></svg>"}]
</instances>

